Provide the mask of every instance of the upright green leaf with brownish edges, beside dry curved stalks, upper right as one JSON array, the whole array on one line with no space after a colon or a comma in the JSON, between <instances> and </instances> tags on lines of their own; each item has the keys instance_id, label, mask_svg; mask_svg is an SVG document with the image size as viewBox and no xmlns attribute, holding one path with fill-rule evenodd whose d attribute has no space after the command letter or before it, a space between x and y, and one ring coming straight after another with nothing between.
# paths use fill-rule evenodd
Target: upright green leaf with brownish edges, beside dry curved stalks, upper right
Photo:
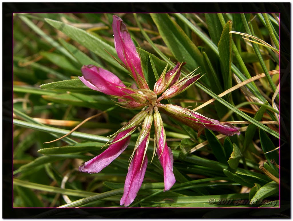
<instances>
[{"instance_id":1,"label":"upright green leaf with brownish edges, beside dry curved stalks, upper right","mask_svg":"<svg viewBox=\"0 0 293 221\"><path fill-rule=\"evenodd\" d=\"M231 57L232 57L232 21L228 21L224 26L220 41L218 43L219 57L222 64L222 75L225 90L232 87Z\"/></svg>"}]
</instances>

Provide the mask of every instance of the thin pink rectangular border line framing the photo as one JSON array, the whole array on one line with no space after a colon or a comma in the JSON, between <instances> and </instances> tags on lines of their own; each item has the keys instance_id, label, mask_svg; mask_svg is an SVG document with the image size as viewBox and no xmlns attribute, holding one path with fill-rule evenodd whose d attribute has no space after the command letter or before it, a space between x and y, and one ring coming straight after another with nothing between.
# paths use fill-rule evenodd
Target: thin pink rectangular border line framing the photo
<instances>
[{"instance_id":1,"label":"thin pink rectangular border line framing the photo","mask_svg":"<svg viewBox=\"0 0 293 221\"><path fill-rule=\"evenodd\" d=\"M14 32L14 28L13 28L13 21L14 21L14 14L71 14L71 13L74 13L74 14L101 14L101 13L103 13L103 12L86 12L86 13L83 13L83 12L65 12L65 13L56 13L56 12L48 12L48 13L46 13L46 12L33 12L33 13L26 13L26 12L21 12L21 13L12 13L13 14L13 16L12 16L12 82L13 82L13 57L14 57L14 50L13 50L13 48L14 48L14 45L13 45L13 43L14 43L14 35L13 35L13 32ZM127 14L133 14L132 12L126 12ZM183 12L184 13L184 12ZM228 13L228 12L224 12L224 14L226 14L226 13ZM241 12L229 12L229 13L231 13L231 14L241 14ZM242 13L242 14L247 14L247 13L256 13L256 12L246 12L246 13ZM262 12L257 12L257 13L261 13L262 14ZM268 14L268 12L265 12L266 14ZM270 12L270 13L275 13L275 14L279 14L279 37L281 38L281 27L280 27L280 23L281 23L281 13L280 12ZM115 12L115 13L107 13L107 14L117 14L117 12ZM176 12L176 13L166 13L166 12L158 12L158 13L146 13L146 12L143 12L143 13L136 13L136 14L182 14L181 12ZM192 13L192 12L188 12L188 13L184 13L184 14L218 14L218 12L210 12L210 13L204 13L204 12L199 12L199 13ZM281 41L279 40L279 45L281 45ZM280 47L279 47L280 48ZM281 66L280 66L280 59L281 59L281 53L279 53L279 85L280 85L280 76L281 76ZM12 98L13 98L13 86L14 86L14 84L12 83ZM279 88L280 89L280 88ZM280 99L281 99L281 90L279 90L279 96L280 96ZM281 113L281 107L280 107L280 103L281 102L279 102L279 112ZM14 105L14 103L12 102L12 108L13 108L13 105ZM281 139L280 139L280 137L281 137L281 130L280 130L280 124L281 124L281 122L279 123L279 147L280 147L280 144L281 144ZM12 125L13 125L13 118L12 118ZM14 132L14 130L13 130L13 126L12 126L12 134L13 134L13 132ZM13 153L14 153L14 146L13 146L13 142L12 142L12 172L14 171L14 168L13 168L13 161L14 161L14 159L13 159ZM281 164L281 148L279 149L279 165ZM12 176L13 176L13 173L12 173ZM281 177L281 171L280 171L280 169L279 169L279 176ZM14 178L14 176L13 176L13 178ZM281 183L281 181L280 181L280 183ZM38 209L38 208L42 208L42 209L54 209L54 208L58 208L58 207L13 207L13 202L14 202L14 197L13 197L13 193L14 193L14 187L13 187L13 185L14 185L14 182L12 181L12 208L20 208L20 209ZM280 206L281 206L281 188L280 188L280 184L279 184L279 207L277 207L276 209L279 209L280 208ZM69 208L76 208L76 207L68 207L68 209ZM107 207L81 207L81 208L84 208L84 209L93 209L93 208L105 208L105 209L107 209ZM128 207L112 207L112 208L128 208ZM154 207L131 207L131 208L154 208ZM157 207L155 207L155 208L157 208ZM164 207L164 208L166 208L166 209L168 209L169 207ZM173 208L173 207L170 207L170 208ZM181 208L181 207L180 207ZM179 208L179 209L180 209ZM198 209L205 209L205 208L207 208L207 209L210 209L210 208L239 208L239 207L184 207L184 208L187 208L187 209L194 209L194 208L198 208ZM245 208L255 208L255 209L259 209L259 207L241 207L241 208L243 208L243 209L245 209ZM241 209L240 208L240 209ZM271 207L261 207L261 208L271 208ZM64 208L64 209L66 209L66 208ZM110 209L110 208L109 208ZM130 209L130 208L129 208ZM275 209L275 208L271 208L271 209Z\"/></svg>"}]
</instances>

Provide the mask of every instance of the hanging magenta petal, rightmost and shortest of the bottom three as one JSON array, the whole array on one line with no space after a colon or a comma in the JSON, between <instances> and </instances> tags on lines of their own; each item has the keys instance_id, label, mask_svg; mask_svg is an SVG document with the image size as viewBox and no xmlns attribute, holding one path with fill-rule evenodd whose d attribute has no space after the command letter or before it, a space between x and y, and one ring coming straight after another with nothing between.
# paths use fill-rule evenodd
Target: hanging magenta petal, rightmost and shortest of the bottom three
<instances>
[{"instance_id":1,"label":"hanging magenta petal, rightmost and shortest of the bottom three","mask_svg":"<svg viewBox=\"0 0 293 221\"><path fill-rule=\"evenodd\" d=\"M163 128L162 132L163 134ZM164 191L169 190L174 183L176 182L175 176L173 174L173 153L170 147L167 146L167 142L165 142L163 149L163 137L159 139L159 147L158 147L158 157L161 162L164 171ZM163 149L163 154L162 154Z\"/></svg>"}]
</instances>

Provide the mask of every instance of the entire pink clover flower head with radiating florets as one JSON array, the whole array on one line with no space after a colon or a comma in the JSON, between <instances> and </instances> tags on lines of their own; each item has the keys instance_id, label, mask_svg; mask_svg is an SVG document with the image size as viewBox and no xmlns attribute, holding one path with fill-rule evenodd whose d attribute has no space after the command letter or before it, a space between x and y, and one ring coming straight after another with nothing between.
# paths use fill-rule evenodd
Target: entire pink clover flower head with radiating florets
<instances>
[{"instance_id":1,"label":"entire pink clover flower head with radiating florets","mask_svg":"<svg viewBox=\"0 0 293 221\"><path fill-rule=\"evenodd\" d=\"M83 76L79 79L89 88L117 98L117 104L123 108L145 108L145 110L140 111L125 126L114 133L112 135L113 141L109 147L103 153L81 165L79 170L86 173L100 172L127 148L131 134L141 125L141 132L130 157L124 193L120 200L120 205L128 206L135 199L147 169L146 152L153 123L155 129L153 157L156 154L163 167L164 191L168 191L176 182L173 174L173 154L166 142L166 133L159 110L190 127L216 130L229 136L240 132L239 128L233 125L220 123L187 108L160 103L163 99L172 98L185 91L200 78L200 75L193 75L194 72L192 72L179 80L181 67L185 62L178 62L168 72L167 64L154 85L154 90L150 90L142 71L139 54L126 25L121 18L114 15L112 27L117 55L122 61L122 66L130 72L137 86L126 87L115 74L93 65L83 66L81 68ZM157 98L157 95L160 94L161 96Z\"/></svg>"}]
</instances>

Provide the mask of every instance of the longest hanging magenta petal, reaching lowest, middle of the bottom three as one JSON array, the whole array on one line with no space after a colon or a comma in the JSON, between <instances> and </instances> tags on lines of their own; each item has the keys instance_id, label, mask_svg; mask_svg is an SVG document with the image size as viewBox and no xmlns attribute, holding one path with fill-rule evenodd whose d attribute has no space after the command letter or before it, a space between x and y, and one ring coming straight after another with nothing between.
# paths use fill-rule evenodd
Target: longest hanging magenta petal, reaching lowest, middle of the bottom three
<instances>
[{"instance_id":1,"label":"longest hanging magenta petal, reaching lowest, middle of the bottom three","mask_svg":"<svg viewBox=\"0 0 293 221\"><path fill-rule=\"evenodd\" d=\"M147 156L144 157L148 136L142 141L134 153L134 157L130 163L128 173L124 184L124 193L120 200L120 205L128 206L135 199L139 188L142 186L144 174L147 169Z\"/></svg>"}]
</instances>

